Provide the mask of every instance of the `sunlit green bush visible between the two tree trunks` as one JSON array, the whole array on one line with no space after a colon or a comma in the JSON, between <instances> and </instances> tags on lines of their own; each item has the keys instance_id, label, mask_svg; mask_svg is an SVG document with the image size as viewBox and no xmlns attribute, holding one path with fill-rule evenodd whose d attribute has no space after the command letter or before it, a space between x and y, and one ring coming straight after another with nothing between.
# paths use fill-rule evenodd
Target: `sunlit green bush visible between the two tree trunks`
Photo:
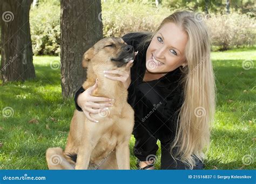
<instances>
[{"instance_id":1,"label":"sunlit green bush visible between the two tree trunks","mask_svg":"<svg viewBox=\"0 0 256 184\"><path fill-rule=\"evenodd\" d=\"M60 2L45 1L30 11L30 29L35 55L60 53Z\"/></svg>"}]
</instances>

